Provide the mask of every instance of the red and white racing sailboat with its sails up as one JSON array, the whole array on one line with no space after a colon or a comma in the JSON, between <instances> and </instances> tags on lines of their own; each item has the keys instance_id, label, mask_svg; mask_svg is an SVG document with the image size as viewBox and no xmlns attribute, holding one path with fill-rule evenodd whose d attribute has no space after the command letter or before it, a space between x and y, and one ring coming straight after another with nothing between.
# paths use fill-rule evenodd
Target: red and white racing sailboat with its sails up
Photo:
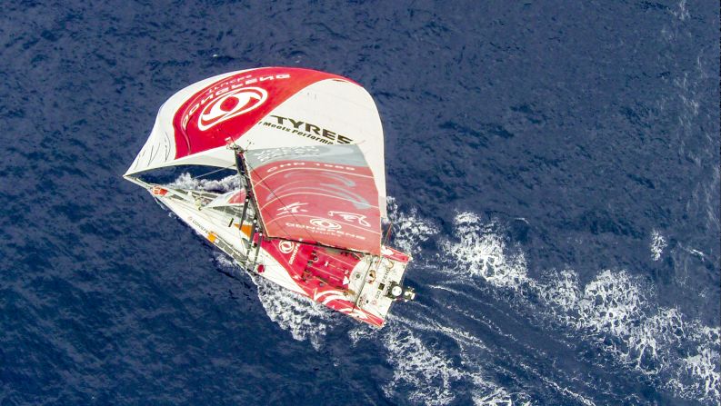
<instances>
[{"instance_id":1,"label":"red and white racing sailboat with its sails up","mask_svg":"<svg viewBox=\"0 0 721 406\"><path fill-rule=\"evenodd\" d=\"M152 183L174 166L232 170L234 190ZM208 243L279 289L382 327L411 257L386 245L383 128L366 89L336 74L263 67L210 77L160 107L124 175Z\"/></svg>"}]
</instances>

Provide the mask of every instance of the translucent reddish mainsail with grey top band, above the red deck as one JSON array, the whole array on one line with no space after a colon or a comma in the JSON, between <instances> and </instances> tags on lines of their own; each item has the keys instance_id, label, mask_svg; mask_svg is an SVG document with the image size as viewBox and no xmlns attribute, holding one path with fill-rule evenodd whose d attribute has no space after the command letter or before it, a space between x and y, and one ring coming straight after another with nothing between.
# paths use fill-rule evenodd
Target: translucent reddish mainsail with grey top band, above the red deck
<instances>
[{"instance_id":1,"label":"translucent reddish mainsail with grey top band, above the red deck","mask_svg":"<svg viewBox=\"0 0 721 406\"><path fill-rule=\"evenodd\" d=\"M245 153L269 237L380 254L378 191L357 145Z\"/></svg>"}]
</instances>

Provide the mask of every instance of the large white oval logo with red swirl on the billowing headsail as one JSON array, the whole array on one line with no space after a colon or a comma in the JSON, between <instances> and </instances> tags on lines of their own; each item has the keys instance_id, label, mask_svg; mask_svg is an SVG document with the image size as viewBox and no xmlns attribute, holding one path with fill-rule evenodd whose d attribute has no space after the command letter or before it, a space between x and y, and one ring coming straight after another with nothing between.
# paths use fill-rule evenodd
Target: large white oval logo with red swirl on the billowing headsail
<instances>
[{"instance_id":1,"label":"large white oval logo with red swirl on the billowing headsail","mask_svg":"<svg viewBox=\"0 0 721 406\"><path fill-rule=\"evenodd\" d=\"M255 110L265 103L268 93L260 87L241 87L218 97L206 105L198 118L198 128L209 130L240 114Z\"/></svg>"}]
</instances>

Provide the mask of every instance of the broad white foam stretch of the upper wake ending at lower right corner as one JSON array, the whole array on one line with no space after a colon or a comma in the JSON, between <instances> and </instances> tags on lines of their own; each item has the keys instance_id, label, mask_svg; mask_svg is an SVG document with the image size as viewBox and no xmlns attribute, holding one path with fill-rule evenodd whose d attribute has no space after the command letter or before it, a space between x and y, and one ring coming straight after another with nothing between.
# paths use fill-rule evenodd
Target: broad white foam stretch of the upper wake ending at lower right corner
<instances>
[{"instance_id":1,"label":"broad white foam stretch of the upper wake ending at lower right corner","mask_svg":"<svg viewBox=\"0 0 721 406\"><path fill-rule=\"evenodd\" d=\"M679 397L719 401L718 327L688 322L676 308L655 307L650 289L626 271L599 273L580 296L576 281L575 273L561 272L555 282L536 286L546 302L564 311L560 320L616 354L617 361Z\"/></svg>"}]
</instances>

